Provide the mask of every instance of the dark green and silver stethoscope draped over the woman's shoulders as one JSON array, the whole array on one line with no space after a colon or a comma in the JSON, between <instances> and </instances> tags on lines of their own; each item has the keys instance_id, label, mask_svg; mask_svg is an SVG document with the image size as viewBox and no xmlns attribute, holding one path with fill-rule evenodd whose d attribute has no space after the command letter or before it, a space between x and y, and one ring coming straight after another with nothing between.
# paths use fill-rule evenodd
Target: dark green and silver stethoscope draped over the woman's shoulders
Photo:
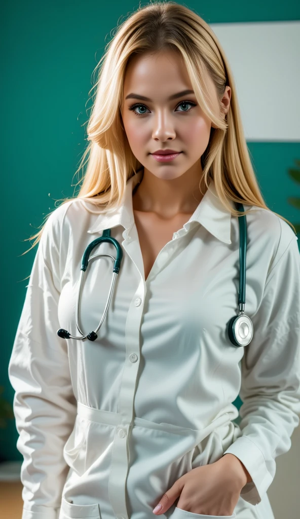
<instances>
[{"instance_id":1,"label":"dark green and silver stethoscope draped over the woman's shoulders","mask_svg":"<svg viewBox=\"0 0 300 519\"><path fill-rule=\"evenodd\" d=\"M236 207L238 211L244 211L243 205L240 202L235 202ZM238 315L231 318L228 322L228 336L231 341L231 343L236 346L247 346L253 337L253 325L251 322L251 319L244 314L244 307L245 307L245 301L246 301L246 250L247 250L247 223L246 223L246 215L239 216L239 233L240 233L240 280L239 280L239 297L238 297L238 305L239 305L239 313ZM117 251L116 257L112 256L111 254L97 254L95 256L89 257L91 251L99 245L99 243L103 242L109 242L112 243ZM94 332L90 332L88 335L85 335L83 331L80 329L79 325L79 305L80 305L80 297L81 297L81 291L82 291L82 285L83 285L83 279L84 279L84 273L89 265L89 262L91 260L94 260L96 258L99 258L100 256L107 256L112 258L114 262L114 268L113 268L113 278L112 283L110 287L110 292L108 294L106 306L104 308L102 319L97 327L97 329ZM81 333L80 337L76 337L75 335L71 335L67 330L60 329L57 331L57 334L59 337L62 337L63 339L89 339L89 340L96 340L97 339L97 332L102 325L108 306L111 302L111 297L113 293L113 289L115 286L117 274L119 273L121 260L123 257L123 251L121 249L121 246L119 242L111 237L111 229L105 229L103 231L103 234L101 238L97 238L96 240L93 240L88 247L86 248L84 255L81 260L81 274L80 274L80 284L79 284L79 290L77 295L77 303L76 303L76 326Z\"/></svg>"}]
</instances>

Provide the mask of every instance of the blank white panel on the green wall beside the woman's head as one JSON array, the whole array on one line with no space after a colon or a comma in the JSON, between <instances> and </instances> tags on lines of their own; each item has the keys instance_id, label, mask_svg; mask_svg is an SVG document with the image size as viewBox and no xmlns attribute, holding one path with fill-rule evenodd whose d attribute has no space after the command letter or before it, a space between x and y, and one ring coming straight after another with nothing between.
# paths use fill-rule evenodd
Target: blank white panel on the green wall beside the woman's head
<instances>
[{"instance_id":1,"label":"blank white panel on the green wall beside the woman's head","mask_svg":"<svg viewBox=\"0 0 300 519\"><path fill-rule=\"evenodd\" d=\"M233 70L247 141L300 141L300 21L212 23Z\"/></svg>"}]
</instances>

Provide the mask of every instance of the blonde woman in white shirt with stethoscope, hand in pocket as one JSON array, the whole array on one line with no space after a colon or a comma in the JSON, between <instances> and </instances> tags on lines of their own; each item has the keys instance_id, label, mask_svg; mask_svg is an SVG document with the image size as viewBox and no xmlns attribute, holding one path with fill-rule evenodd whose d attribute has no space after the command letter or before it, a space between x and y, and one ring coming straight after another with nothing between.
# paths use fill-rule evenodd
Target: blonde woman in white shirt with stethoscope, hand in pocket
<instances>
[{"instance_id":1,"label":"blonde woman in white shirt with stethoscope, hand in pocket","mask_svg":"<svg viewBox=\"0 0 300 519\"><path fill-rule=\"evenodd\" d=\"M202 18L148 4L101 63L84 180L34 236L9 363L22 519L274 519L267 489L300 412L297 237L266 207ZM246 346L227 330L239 215ZM120 244L118 274L108 239L80 270L101 237Z\"/></svg>"}]
</instances>

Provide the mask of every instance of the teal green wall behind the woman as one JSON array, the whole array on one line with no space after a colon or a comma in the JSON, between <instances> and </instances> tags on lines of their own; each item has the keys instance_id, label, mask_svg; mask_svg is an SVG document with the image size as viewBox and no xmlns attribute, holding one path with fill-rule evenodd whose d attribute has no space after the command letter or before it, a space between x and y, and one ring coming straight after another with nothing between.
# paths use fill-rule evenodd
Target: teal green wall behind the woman
<instances>
[{"instance_id":1,"label":"teal green wall behind the woman","mask_svg":"<svg viewBox=\"0 0 300 519\"><path fill-rule=\"evenodd\" d=\"M181 2L178 2L181 3ZM147 2L141 3L141 6ZM300 3L183 3L208 23L300 19ZM2 348L0 385L12 404L8 362L37 247L23 241L35 234L54 201L78 192L74 176L86 147L92 72L114 29L139 3L6 2L1 21L2 142ZM287 201L300 196L288 169L300 159L298 142L249 142L249 151L267 206L300 222ZM73 184L73 185L72 185ZM300 241L300 240L299 240ZM235 402L239 407L240 400ZM21 460L15 420L0 429L0 461Z\"/></svg>"}]
</instances>

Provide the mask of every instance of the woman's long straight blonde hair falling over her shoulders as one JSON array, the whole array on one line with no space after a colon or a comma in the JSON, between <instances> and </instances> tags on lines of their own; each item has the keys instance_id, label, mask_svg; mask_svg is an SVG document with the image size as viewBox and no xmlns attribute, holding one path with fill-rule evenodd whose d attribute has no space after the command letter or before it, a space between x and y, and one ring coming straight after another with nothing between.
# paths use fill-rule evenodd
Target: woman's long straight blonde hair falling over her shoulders
<instances>
[{"instance_id":1,"label":"woman's long straight blonde hair falling over her shoulders","mask_svg":"<svg viewBox=\"0 0 300 519\"><path fill-rule=\"evenodd\" d=\"M76 197L57 201L66 203L77 198L85 199L97 206L98 212L100 209L100 212L108 213L119 205L127 181L142 166L134 157L121 124L126 66L131 56L165 49L180 52L197 101L217 127L211 128L209 144L201 157L203 175L200 184L204 181L208 186L210 179L213 179L217 195L234 216L247 214L247 211L235 210L227 198L270 211L252 168L233 74L219 40L195 12L176 2L163 1L150 2L138 8L119 25L113 39L106 45L95 69L99 71L98 80L93 86L96 93L93 94L95 98L87 126L89 144L75 172L81 167L84 169L88 156L83 183ZM216 117L210 108L211 95L206 83L208 74L220 100L226 85L231 89L229 111L221 118ZM286 218L275 214L291 225L296 234L294 226ZM36 238L31 249L40 240L45 223L37 234L28 238Z\"/></svg>"}]
</instances>

